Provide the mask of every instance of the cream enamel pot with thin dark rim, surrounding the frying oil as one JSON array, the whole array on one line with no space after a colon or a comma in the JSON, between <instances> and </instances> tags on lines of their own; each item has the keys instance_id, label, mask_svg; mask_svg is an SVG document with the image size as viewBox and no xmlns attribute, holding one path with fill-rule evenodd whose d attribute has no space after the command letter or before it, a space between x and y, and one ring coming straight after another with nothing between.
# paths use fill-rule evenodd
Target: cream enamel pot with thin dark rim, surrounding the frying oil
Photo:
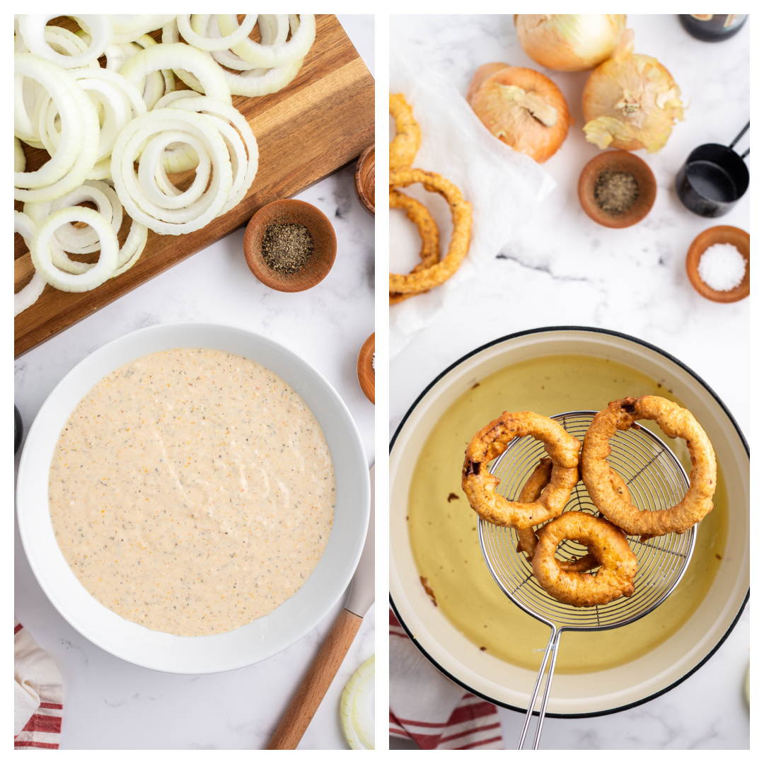
<instances>
[{"instance_id":1,"label":"cream enamel pot with thin dark rim, surrounding the frying oil","mask_svg":"<svg viewBox=\"0 0 764 764\"><path fill-rule=\"evenodd\" d=\"M610 358L665 383L701 422L714 443L729 491L727 549L704 601L681 628L640 659L602 672L555 675L548 715L581 717L621 711L655 698L697 670L735 625L749 587L749 455L736 422L703 380L675 358L626 335L601 329L520 332L461 358L422 392L393 436L390 452L390 599L417 647L458 684L504 707L525 711L536 672L474 649L432 607L419 584L406 523L416 458L445 410L494 371L558 354ZM507 601L507 607L514 607ZM507 635L511 639L511 635Z\"/></svg>"}]
</instances>

